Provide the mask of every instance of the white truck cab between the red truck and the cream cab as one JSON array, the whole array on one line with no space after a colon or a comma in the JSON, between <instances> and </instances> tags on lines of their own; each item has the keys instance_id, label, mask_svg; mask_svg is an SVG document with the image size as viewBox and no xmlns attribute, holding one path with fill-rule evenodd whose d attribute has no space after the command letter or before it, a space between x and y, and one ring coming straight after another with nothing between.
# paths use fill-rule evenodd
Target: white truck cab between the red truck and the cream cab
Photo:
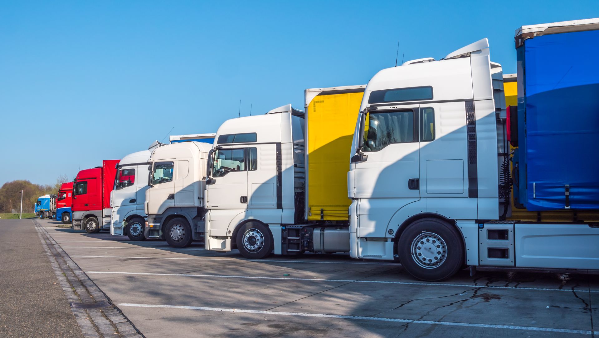
<instances>
[{"instance_id":1,"label":"white truck cab between the red truck and the cream cab","mask_svg":"<svg viewBox=\"0 0 599 338\"><path fill-rule=\"evenodd\" d=\"M152 150L164 146L158 141L148 150L130 153L119 161L113 190L110 192L110 234L127 235L132 241L143 241L146 227L146 190L149 188L148 159Z\"/></svg>"}]
</instances>

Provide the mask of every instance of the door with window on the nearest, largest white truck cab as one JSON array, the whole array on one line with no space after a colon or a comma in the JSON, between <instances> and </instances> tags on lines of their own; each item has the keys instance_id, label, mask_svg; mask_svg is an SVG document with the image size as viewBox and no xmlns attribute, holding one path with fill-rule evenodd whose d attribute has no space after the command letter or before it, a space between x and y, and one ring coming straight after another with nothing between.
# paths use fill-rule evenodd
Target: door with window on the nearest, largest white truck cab
<instances>
[{"instance_id":1,"label":"door with window on the nearest, largest white truck cab","mask_svg":"<svg viewBox=\"0 0 599 338\"><path fill-rule=\"evenodd\" d=\"M420 199L418 105L361 113L363 161L356 162L359 236ZM392 199L392 201L390 200ZM384 227L380 227L379 229Z\"/></svg>"}]
</instances>

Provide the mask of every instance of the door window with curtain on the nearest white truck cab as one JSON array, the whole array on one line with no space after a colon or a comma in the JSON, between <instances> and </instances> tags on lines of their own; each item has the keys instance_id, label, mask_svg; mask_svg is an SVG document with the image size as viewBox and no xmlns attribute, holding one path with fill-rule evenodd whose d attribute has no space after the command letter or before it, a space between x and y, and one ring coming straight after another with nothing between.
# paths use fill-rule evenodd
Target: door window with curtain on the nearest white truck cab
<instances>
[{"instance_id":1,"label":"door window with curtain on the nearest white truck cab","mask_svg":"<svg viewBox=\"0 0 599 338\"><path fill-rule=\"evenodd\" d=\"M418 142L413 110L370 112L365 122L365 152L376 152L392 143Z\"/></svg>"}]
</instances>

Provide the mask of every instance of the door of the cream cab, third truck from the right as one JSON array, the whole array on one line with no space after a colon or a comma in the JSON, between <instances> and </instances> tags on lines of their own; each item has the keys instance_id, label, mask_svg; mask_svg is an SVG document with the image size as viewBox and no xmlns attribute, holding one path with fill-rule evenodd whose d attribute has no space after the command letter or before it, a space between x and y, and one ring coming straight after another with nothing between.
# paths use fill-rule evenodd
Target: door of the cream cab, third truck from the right
<instances>
[{"instance_id":1,"label":"door of the cream cab, third truck from the right","mask_svg":"<svg viewBox=\"0 0 599 338\"><path fill-rule=\"evenodd\" d=\"M162 214L167 208L175 205L175 183L173 182L175 159L161 159L152 164L150 182L152 188L148 190L150 213Z\"/></svg>"}]
</instances>

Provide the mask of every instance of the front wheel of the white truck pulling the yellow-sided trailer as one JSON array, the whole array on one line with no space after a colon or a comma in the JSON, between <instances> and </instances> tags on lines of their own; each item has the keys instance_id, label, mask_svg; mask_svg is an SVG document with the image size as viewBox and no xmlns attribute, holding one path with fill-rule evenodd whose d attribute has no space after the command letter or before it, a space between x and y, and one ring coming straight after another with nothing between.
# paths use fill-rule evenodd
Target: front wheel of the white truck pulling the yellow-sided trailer
<instances>
[{"instance_id":1,"label":"front wheel of the white truck pulling the yellow-sided trailer","mask_svg":"<svg viewBox=\"0 0 599 338\"><path fill-rule=\"evenodd\" d=\"M273 252L273 238L266 226L249 222L237 231L237 248L243 257L262 259Z\"/></svg>"}]
</instances>

